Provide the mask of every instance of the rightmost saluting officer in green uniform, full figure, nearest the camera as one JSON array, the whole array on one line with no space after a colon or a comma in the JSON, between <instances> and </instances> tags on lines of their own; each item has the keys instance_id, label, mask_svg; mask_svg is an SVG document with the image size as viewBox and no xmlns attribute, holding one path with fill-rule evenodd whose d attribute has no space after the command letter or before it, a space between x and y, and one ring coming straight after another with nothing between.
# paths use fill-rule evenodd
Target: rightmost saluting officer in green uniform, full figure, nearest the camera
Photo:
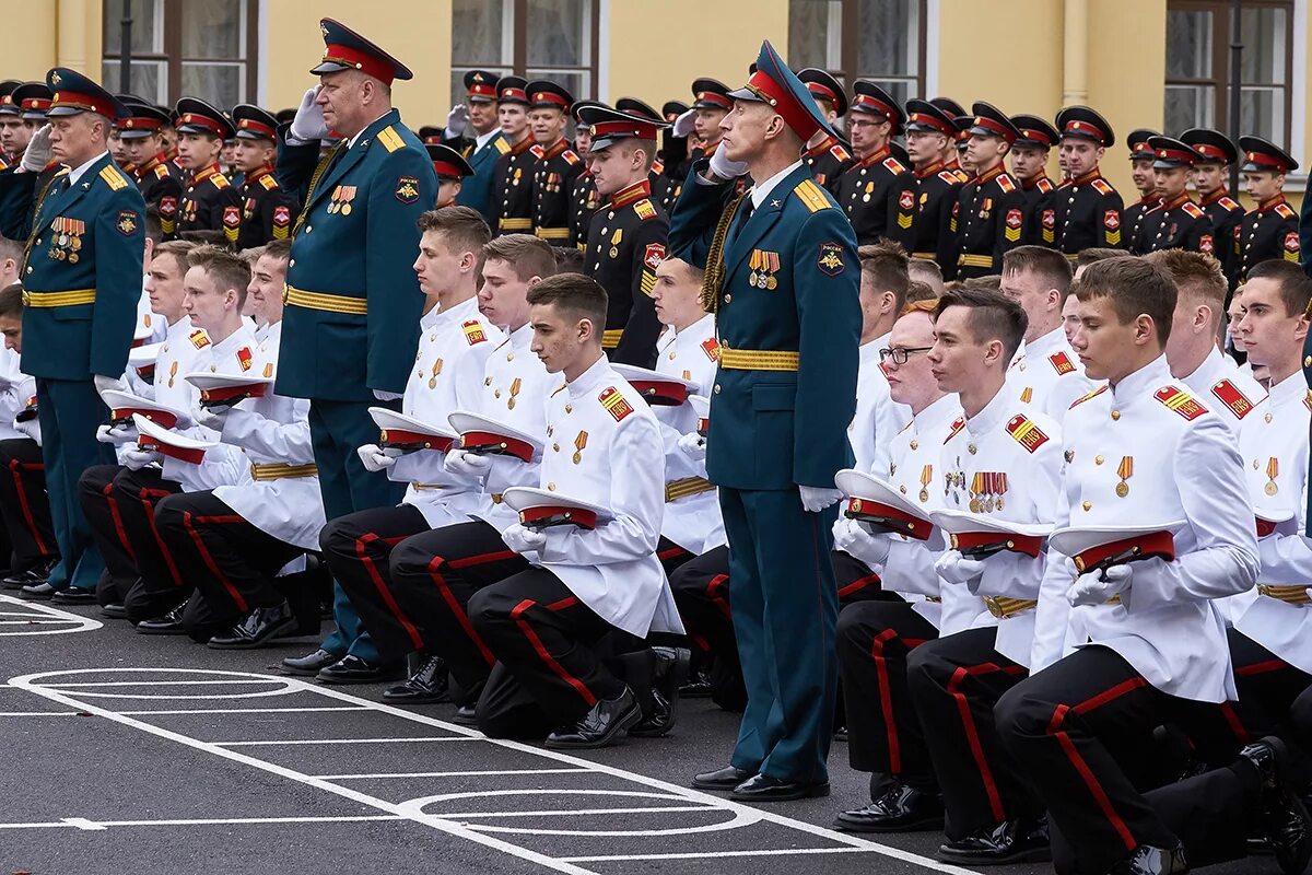
<instances>
[{"instance_id":1,"label":"rightmost saluting officer in green uniform, full figure, nearest the camera","mask_svg":"<svg viewBox=\"0 0 1312 875\"><path fill-rule=\"evenodd\" d=\"M748 694L729 766L693 783L773 802L829 791L833 478L853 460L861 265L846 215L799 160L828 123L769 42L733 101L723 144L693 165L670 227L673 254L706 265L722 344L706 463ZM741 173L756 185L735 198Z\"/></svg>"}]
</instances>

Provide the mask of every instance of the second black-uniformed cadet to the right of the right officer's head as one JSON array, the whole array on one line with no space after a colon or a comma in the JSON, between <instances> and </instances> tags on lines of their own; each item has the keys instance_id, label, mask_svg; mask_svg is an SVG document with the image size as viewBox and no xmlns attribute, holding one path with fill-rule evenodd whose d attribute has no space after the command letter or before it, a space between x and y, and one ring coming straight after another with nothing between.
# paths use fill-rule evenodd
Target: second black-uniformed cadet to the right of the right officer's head
<instances>
[{"instance_id":1,"label":"second black-uniformed cadet to the right of the right officer's head","mask_svg":"<svg viewBox=\"0 0 1312 875\"><path fill-rule=\"evenodd\" d=\"M857 243L870 245L884 237L911 247L914 198L897 210L897 185L908 168L891 151L891 140L901 134L905 113L897 101L872 81L858 79L848 110L848 135L857 161L838 177L834 199L857 232Z\"/></svg>"}]
</instances>

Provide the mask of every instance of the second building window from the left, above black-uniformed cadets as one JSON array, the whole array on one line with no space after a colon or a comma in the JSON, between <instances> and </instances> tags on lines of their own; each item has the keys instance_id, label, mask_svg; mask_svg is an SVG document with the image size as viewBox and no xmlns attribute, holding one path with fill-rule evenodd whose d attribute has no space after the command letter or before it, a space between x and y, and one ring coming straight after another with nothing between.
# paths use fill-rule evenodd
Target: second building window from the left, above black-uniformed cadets
<instances>
[{"instance_id":1,"label":"second building window from the left, above black-uniformed cadets","mask_svg":"<svg viewBox=\"0 0 1312 875\"><path fill-rule=\"evenodd\" d=\"M453 0L451 101L464 101L464 73L475 68L596 98L600 13L601 0Z\"/></svg>"}]
</instances>

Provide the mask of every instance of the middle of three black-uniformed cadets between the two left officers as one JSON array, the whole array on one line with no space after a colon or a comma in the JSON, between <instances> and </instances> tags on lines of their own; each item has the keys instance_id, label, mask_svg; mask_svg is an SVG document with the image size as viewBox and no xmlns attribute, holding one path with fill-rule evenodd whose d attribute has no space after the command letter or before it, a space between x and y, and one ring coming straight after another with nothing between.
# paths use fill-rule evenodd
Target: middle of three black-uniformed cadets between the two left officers
<instances>
[{"instance_id":1,"label":"middle of three black-uniformed cadets between the two left officers","mask_svg":"<svg viewBox=\"0 0 1312 875\"><path fill-rule=\"evenodd\" d=\"M223 207L230 203L231 185L219 167L223 140L235 135L232 122L203 100L177 101L177 153L189 176L178 203L177 232L218 231L223 227Z\"/></svg>"}]
</instances>

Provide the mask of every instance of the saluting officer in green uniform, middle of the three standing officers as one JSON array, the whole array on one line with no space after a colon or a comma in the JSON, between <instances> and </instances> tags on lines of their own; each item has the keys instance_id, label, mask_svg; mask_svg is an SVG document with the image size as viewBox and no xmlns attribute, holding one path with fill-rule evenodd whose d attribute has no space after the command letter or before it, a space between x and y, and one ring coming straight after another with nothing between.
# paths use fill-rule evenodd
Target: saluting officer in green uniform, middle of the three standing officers
<instances>
[{"instance_id":1,"label":"saluting officer in green uniform, middle of the three standing officers","mask_svg":"<svg viewBox=\"0 0 1312 875\"><path fill-rule=\"evenodd\" d=\"M356 450L378 439L369 408L396 405L415 362L424 295L411 264L437 177L391 105L392 81L411 71L332 18L320 28L327 49L310 71L320 85L302 98L278 155L289 190L314 176L293 227L277 392L311 401L319 484L333 519L401 499L399 484L367 472ZM329 129L344 139L320 160ZM384 677L341 586L333 617L337 630L320 649L283 668L312 676L340 662L340 682Z\"/></svg>"}]
</instances>

